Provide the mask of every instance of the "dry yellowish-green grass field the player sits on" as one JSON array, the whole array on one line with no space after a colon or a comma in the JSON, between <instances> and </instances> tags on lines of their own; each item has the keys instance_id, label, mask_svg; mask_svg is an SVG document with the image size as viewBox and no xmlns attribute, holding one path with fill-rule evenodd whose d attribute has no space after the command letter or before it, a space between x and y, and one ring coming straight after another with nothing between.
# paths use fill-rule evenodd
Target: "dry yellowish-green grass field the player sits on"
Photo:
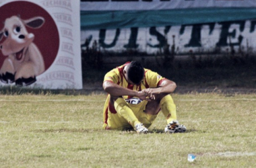
<instances>
[{"instance_id":1,"label":"dry yellowish-green grass field the player sits on","mask_svg":"<svg viewBox=\"0 0 256 168\"><path fill-rule=\"evenodd\" d=\"M184 134L105 131L105 94L0 97L0 167L256 167L256 95L172 95ZM187 155L197 156L194 162Z\"/></svg>"}]
</instances>

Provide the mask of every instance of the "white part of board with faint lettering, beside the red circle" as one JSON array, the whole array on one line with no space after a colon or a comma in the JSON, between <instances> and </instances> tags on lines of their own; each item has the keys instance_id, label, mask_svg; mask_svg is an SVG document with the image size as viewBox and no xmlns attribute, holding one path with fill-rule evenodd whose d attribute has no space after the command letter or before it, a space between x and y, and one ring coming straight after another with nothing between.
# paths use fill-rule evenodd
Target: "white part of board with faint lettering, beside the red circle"
<instances>
[{"instance_id":1,"label":"white part of board with faint lettering, beside the red circle","mask_svg":"<svg viewBox=\"0 0 256 168\"><path fill-rule=\"evenodd\" d=\"M77 47L77 44L79 44L77 36L80 36L80 23L78 22L79 19L77 19L79 17L79 12L77 12L79 11L79 5L77 3L79 2L72 0L42 0L41 3L42 6L51 11L61 39L59 54L55 63L51 71L43 75L40 81L61 89L65 89L65 87L82 89L82 69L79 67L81 64L79 56L81 54Z\"/></svg>"}]
</instances>

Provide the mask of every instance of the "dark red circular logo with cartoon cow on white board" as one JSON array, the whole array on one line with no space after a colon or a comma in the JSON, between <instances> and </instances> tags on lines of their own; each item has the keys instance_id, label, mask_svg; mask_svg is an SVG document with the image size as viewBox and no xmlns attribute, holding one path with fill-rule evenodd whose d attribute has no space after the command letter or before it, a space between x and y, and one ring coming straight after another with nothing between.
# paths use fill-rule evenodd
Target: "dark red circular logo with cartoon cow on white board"
<instances>
[{"instance_id":1,"label":"dark red circular logo with cartoon cow on white board","mask_svg":"<svg viewBox=\"0 0 256 168\"><path fill-rule=\"evenodd\" d=\"M3 23L0 24L0 73L13 71L6 68L12 59L10 65L15 70L11 73L16 76L24 73L19 72L22 68L35 71L34 77L49 69L60 43L57 25L51 15L39 5L27 1L7 3L0 7L0 11L0 23ZM24 66L28 62L35 70L29 65ZM26 79L26 75L16 76L17 79Z\"/></svg>"}]
</instances>

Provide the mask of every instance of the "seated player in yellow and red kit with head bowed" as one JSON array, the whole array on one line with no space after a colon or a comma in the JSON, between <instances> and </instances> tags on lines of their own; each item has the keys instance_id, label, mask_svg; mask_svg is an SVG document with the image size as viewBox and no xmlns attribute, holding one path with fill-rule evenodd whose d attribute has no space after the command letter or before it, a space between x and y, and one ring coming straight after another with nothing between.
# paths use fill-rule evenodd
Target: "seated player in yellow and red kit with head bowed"
<instances>
[{"instance_id":1,"label":"seated player in yellow and red kit with head bowed","mask_svg":"<svg viewBox=\"0 0 256 168\"><path fill-rule=\"evenodd\" d=\"M103 128L131 129L147 133L159 112L166 117L164 132L185 132L177 121L170 93L176 83L144 69L137 61L126 62L106 73L103 89L108 93L103 110Z\"/></svg>"}]
</instances>

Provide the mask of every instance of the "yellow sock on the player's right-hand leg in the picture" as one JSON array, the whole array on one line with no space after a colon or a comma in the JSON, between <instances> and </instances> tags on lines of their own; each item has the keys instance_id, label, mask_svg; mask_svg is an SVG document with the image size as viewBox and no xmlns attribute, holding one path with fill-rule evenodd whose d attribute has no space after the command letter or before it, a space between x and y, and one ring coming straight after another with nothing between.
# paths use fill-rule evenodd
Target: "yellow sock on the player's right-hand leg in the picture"
<instances>
[{"instance_id":1,"label":"yellow sock on the player's right-hand leg in the picture","mask_svg":"<svg viewBox=\"0 0 256 168\"><path fill-rule=\"evenodd\" d=\"M166 117L166 122L169 124L172 120L177 120L176 105L170 95L164 96L160 101L161 111Z\"/></svg>"}]
</instances>

